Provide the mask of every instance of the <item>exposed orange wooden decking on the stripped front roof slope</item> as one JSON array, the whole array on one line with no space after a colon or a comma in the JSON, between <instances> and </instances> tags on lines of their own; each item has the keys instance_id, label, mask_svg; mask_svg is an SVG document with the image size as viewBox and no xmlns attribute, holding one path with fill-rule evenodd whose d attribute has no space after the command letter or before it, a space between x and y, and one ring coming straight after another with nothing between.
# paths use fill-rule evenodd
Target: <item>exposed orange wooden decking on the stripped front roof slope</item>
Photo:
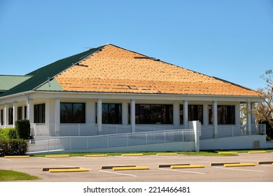
<instances>
[{"instance_id":1,"label":"exposed orange wooden decking on the stripped front roof slope","mask_svg":"<svg viewBox=\"0 0 273 196\"><path fill-rule=\"evenodd\" d=\"M258 96L254 90L111 44L56 80L64 91Z\"/></svg>"}]
</instances>

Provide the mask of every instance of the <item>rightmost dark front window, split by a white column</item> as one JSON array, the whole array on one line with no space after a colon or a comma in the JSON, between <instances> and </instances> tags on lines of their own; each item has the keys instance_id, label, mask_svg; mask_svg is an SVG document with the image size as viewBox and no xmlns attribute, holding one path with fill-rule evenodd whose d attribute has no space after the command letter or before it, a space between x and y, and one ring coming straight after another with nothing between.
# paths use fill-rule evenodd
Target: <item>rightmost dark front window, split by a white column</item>
<instances>
[{"instance_id":1,"label":"rightmost dark front window, split by a white column","mask_svg":"<svg viewBox=\"0 0 273 196\"><path fill-rule=\"evenodd\" d=\"M235 124L235 106L217 106L217 121L220 125ZM213 123L213 106L209 106L209 124Z\"/></svg>"}]
</instances>

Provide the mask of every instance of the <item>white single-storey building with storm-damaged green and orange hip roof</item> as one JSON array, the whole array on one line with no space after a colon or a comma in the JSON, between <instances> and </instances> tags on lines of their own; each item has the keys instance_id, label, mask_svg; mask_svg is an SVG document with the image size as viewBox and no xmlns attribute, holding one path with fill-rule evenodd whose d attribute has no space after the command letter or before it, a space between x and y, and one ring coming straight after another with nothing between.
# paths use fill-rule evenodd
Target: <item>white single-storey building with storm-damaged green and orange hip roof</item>
<instances>
[{"instance_id":1,"label":"white single-storey building with storm-damaged green and orange hip roof","mask_svg":"<svg viewBox=\"0 0 273 196\"><path fill-rule=\"evenodd\" d=\"M240 104L252 109L259 92L112 44L0 76L0 92L1 127L27 118L36 139L185 130L194 120L201 139L264 134L251 113L240 123Z\"/></svg>"}]
</instances>

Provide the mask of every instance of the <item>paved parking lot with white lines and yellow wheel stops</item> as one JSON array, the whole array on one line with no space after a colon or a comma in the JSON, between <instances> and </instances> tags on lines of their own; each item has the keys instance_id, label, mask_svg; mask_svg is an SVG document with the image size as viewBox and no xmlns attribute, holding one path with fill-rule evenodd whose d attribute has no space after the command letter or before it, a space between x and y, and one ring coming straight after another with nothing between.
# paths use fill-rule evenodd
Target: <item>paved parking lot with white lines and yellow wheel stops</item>
<instances>
[{"instance_id":1,"label":"paved parking lot with white lines and yellow wheel stops","mask_svg":"<svg viewBox=\"0 0 273 196\"><path fill-rule=\"evenodd\" d=\"M25 172L43 182L273 182L273 153L240 153L235 156L144 155L69 158L0 158L0 169ZM211 163L241 162L254 166L224 167ZM172 169L158 165L204 165L204 168ZM102 169L102 166L145 166L148 169ZM87 172L48 172L42 168L80 167Z\"/></svg>"}]
</instances>

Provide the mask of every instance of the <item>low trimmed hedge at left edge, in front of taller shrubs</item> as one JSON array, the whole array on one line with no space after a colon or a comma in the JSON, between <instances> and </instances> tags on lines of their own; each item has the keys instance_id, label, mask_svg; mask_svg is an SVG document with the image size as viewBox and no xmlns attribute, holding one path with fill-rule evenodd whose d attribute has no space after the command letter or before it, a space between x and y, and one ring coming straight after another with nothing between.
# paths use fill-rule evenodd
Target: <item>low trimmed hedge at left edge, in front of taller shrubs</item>
<instances>
[{"instance_id":1,"label":"low trimmed hedge at left edge, in front of taller shrubs","mask_svg":"<svg viewBox=\"0 0 273 196\"><path fill-rule=\"evenodd\" d=\"M0 140L0 157L6 155L25 155L27 141L23 139Z\"/></svg>"}]
</instances>

